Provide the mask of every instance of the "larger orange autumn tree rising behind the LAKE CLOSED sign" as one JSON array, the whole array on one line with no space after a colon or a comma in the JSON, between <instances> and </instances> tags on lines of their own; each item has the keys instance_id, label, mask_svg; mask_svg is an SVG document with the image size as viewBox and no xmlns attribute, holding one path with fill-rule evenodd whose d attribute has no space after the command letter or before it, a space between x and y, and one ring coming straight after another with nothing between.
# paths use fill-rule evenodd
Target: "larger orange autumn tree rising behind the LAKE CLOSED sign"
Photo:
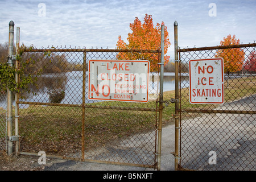
<instances>
[{"instance_id":1,"label":"larger orange autumn tree rising behind the LAKE CLOSED sign","mask_svg":"<svg viewBox=\"0 0 256 182\"><path fill-rule=\"evenodd\" d=\"M163 22L162 22L163 23ZM117 48L118 49L148 49L156 50L161 47L161 26L159 23L154 27L153 19L151 15L145 15L144 23L138 17L135 18L134 23L130 23L130 29L132 33L128 34L128 42L126 44L121 35L118 36ZM169 34L167 27L164 27L164 55L167 53L168 47L171 43L169 40ZM133 60L149 60L150 71L158 71L158 56L152 53L132 52L132 53L118 53L117 59L133 59ZM164 56L164 65L168 63L170 56Z\"/></svg>"}]
</instances>

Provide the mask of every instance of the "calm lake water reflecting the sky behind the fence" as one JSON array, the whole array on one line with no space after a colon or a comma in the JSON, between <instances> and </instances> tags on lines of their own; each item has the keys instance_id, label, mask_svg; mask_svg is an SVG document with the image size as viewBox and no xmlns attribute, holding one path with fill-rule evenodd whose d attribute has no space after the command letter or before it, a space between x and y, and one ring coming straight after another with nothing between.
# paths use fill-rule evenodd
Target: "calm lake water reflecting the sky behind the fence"
<instances>
[{"instance_id":1,"label":"calm lake water reflecting the sky behind the fence","mask_svg":"<svg viewBox=\"0 0 256 182\"><path fill-rule=\"evenodd\" d=\"M153 77L153 78L152 78ZM188 86L188 75L181 76L181 84ZM149 92L159 92L159 82L156 74L150 75ZM183 88L184 88L184 85ZM88 90L88 72L86 72L86 94ZM26 95L28 102L49 102L48 88L56 87L65 91L62 104L82 104L82 72L73 71L67 73L43 74L38 80L38 88L32 88L36 95ZM163 91L175 90L175 73L164 73ZM87 97L87 96L86 96ZM86 99L86 102L90 102ZM6 96L0 97L0 107L6 108Z\"/></svg>"}]
</instances>

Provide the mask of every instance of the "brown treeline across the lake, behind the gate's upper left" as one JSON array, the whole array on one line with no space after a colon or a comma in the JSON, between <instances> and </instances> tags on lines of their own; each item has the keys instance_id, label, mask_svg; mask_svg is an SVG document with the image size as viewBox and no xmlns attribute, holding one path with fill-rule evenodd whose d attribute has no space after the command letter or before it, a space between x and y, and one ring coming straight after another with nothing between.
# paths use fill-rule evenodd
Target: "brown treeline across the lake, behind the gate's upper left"
<instances>
[{"instance_id":1,"label":"brown treeline across the lake, behind the gate's upper left","mask_svg":"<svg viewBox=\"0 0 256 182\"><path fill-rule=\"evenodd\" d=\"M15 47L14 47L15 51ZM0 63L7 63L8 43L0 44ZM23 52L22 61L28 63L27 73L60 73L82 71L83 65L67 61L62 52ZM86 71L88 65L86 64Z\"/></svg>"}]
</instances>

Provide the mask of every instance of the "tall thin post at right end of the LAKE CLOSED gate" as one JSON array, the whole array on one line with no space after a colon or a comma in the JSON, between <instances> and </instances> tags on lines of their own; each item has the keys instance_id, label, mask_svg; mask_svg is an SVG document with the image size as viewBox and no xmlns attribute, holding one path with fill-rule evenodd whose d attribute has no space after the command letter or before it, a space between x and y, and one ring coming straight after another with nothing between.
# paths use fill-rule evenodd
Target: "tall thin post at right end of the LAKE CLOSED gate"
<instances>
[{"instance_id":1,"label":"tall thin post at right end of the LAKE CLOSED gate","mask_svg":"<svg viewBox=\"0 0 256 182\"><path fill-rule=\"evenodd\" d=\"M160 97L159 97L159 126L158 126L158 171L161 164L162 147L162 115L163 115L163 73L164 73L164 24L161 26L161 57L160 57Z\"/></svg>"}]
</instances>

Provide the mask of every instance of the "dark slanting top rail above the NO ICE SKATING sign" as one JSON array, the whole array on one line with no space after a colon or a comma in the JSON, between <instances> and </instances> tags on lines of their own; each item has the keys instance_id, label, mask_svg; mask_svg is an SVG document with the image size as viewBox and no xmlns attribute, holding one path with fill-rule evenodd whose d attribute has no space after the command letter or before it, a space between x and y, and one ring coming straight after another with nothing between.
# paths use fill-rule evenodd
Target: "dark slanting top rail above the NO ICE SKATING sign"
<instances>
[{"instance_id":1,"label":"dark slanting top rail above the NO ICE SKATING sign","mask_svg":"<svg viewBox=\"0 0 256 182\"><path fill-rule=\"evenodd\" d=\"M207 50L212 50L212 49L245 48L245 47L256 47L256 43L251 43L251 44L239 44L239 45L230 45L230 46L213 46L213 47L199 47L199 48L183 48L183 49L177 49L177 52L207 51Z\"/></svg>"}]
</instances>

